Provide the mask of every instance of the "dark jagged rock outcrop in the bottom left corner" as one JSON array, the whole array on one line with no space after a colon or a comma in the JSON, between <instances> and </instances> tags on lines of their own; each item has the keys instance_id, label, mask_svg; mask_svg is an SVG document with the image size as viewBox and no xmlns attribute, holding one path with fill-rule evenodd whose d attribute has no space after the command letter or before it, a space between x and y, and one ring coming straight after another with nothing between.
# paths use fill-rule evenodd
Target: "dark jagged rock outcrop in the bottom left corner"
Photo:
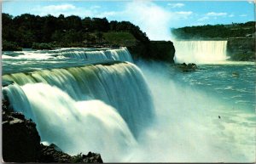
<instances>
[{"instance_id":1,"label":"dark jagged rock outcrop in the bottom left corner","mask_svg":"<svg viewBox=\"0 0 256 164\"><path fill-rule=\"evenodd\" d=\"M102 163L99 154L89 152L69 156L57 149L55 144L40 144L36 124L22 113L11 111L9 101L2 100L3 161L5 162L58 162L58 163Z\"/></svg>"}]
</instances>

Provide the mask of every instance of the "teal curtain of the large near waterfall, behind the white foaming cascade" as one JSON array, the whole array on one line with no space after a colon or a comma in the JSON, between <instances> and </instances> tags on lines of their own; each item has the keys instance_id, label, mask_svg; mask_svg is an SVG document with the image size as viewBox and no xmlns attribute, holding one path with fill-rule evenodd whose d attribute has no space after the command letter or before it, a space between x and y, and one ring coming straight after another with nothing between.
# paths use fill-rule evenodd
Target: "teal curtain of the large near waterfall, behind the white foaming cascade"
<instances>
[{"instance_id":1,"label":"teal curtain of the large near waterfall, behind the white foaming cascade","mask_svg":"<svg viewBox=\"0 0 256 164\"><path fill-rule=\"evenodd\" d=\"M60 88L76 101L101 99L119 111L131 132L137 136L147 127L154 116L154 105L141 71L133 64L90 65L51 71L34 71L32 73L15 73L3 76L3 80L13 81L20 86L26 83L43 82ZM4 91L3 89L3 92ZM37 92L33 90L33 92ZM47 90L45 90L47 95ZM25 109L16 99L24 96L12 96L15 90L8 92L15 109ZM18 98L17 98L18 97ZM49 104L54 104L50 101ZM52 106L54 107L54 106ZM56 110L53 108L52 110Z\"/></svg>"}]
</instances>

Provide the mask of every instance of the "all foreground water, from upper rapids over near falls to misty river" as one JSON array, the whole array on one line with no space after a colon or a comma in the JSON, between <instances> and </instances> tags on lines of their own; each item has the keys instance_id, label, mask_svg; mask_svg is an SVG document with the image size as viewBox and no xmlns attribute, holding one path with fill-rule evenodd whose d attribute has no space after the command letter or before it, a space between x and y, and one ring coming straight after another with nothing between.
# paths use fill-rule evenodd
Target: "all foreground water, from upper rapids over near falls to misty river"
<instances>
[{"instance_id":1,"label":"all foreground water, from upper rapids over near falls to misty river","mask_svg":"<svg viewBox=\"0 0 256 164\"><path fill-rule=\"evenodd\" d=\"M113 60L132 61L126 48L6 53L3 80L15 84L3 94L37 123L42 141L72 155L91 150L103 161L255 161L253 63L182 73L154 62L106 65Z\"/></svg>"}]
</instances>

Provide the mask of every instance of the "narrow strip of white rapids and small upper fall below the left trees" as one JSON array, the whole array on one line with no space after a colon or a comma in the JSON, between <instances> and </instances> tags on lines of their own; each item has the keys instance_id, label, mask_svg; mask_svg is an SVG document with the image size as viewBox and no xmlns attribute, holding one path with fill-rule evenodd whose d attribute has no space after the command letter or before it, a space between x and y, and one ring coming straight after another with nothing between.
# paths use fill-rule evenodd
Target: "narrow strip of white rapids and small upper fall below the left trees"
<instances>
[{"instance_id":1,"label":"narrow strip of white rapids and small upper fall below the left trees","mask_svg":"<svg viewBox=\"0 0 256 164\"><path fill-rule=\"evenodd\" d=\"M119 60L133 62L128 49L114 48L61 48L56 50L38 50L38 51L18 51L4 52L2 59L85 59L91 62L102 62L106 60Z\"/></svg>"}]
</instances>

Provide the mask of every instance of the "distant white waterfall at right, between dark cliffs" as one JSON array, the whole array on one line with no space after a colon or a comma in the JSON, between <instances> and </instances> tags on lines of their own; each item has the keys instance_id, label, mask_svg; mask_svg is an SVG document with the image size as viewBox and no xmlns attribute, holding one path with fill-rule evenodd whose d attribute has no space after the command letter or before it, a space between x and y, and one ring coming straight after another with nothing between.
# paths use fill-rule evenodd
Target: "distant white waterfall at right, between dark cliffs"
<instances>
[{"instance_id":1,"label":"distant white waterfall at right, between dark cliffs","mask_svg":"<svg viewBox=\"0 0 256 164\"><path fill-rule=\"evenodd\" d=\"M227 41L177 41L176 63L215 63L227 59Z\"/></svg>"}]
</instances>

